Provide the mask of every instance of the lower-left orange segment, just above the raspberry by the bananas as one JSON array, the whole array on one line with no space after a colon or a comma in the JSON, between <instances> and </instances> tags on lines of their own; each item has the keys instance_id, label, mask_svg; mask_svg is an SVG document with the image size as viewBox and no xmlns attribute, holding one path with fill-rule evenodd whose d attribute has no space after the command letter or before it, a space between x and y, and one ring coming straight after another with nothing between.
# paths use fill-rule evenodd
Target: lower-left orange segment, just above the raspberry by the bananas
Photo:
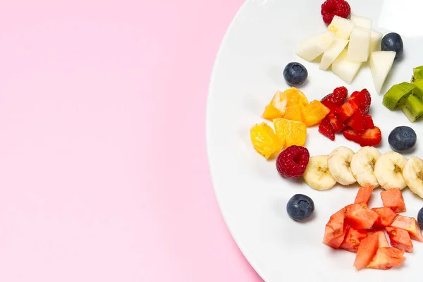
<instances>
[{"instance_id":1,"label":"lower-left orange segment, just above the raspberry by the bananas","mask_svg":"<svg viewBox=\"0 0 423 282\"><path fill-rule=\"evenodd\" d=\"M254 148L266 159L274 157L283 147L283 142L267 123L254 125L250 130L250 137Z\"/></svg>"}]
</instances>

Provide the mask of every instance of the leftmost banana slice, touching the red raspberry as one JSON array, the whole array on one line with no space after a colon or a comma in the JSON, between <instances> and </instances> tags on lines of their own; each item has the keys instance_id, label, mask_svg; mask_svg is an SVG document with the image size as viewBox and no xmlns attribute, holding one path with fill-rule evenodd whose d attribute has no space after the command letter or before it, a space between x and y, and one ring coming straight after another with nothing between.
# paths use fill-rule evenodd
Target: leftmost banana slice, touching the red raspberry
<instances>
[{"instance_id":1,"label":"leftmost banana slice, touching the red raspberry","mask_svg":"<svg viewBox=\"0 0 423 282\"><path fill-rule=\"evenodd\" d=\"M328 156L311 157L302 176L305 183L315 190L329 190L336 184L329 171L328 158Z\"/></svg>"}]
</instances>

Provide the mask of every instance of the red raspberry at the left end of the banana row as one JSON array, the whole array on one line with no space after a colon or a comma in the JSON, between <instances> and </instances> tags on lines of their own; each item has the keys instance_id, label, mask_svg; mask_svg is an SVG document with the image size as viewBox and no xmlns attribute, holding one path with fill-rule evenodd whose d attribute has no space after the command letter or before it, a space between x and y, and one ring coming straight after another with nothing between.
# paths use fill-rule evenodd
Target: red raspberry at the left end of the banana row
<instances>
[{"instance_id":1,"label":"red raspberry at the left end of the banana row","mask_svg":"<svg viewBox=\"0 0 423 282\"><path fill-rule=\"evenodd\" d=\"M298 178L304 174L310 154L305 147L290 146L276 159L276 169L283 177Z\"/></svg>"}]
</instances>

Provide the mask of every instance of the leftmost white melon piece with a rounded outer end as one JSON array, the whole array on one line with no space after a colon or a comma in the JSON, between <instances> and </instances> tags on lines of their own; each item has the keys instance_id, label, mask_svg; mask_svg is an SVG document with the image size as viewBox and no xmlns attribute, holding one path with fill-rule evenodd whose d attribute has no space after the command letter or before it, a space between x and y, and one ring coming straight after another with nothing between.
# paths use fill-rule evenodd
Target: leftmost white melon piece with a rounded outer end
<instances>
[{"instance_id":1,"label":"leftmost white melon piece with a rounded outer end","mask_svg":"<svg viewBox=\"0 0 423 282\"><path fill-rule=\"evenodd\" d=\"M319 33L304 39L295 53L305 61L313 61L329 49L334 39L336 39L336 35L331 31Z\"/></svg>"}]
</instances>

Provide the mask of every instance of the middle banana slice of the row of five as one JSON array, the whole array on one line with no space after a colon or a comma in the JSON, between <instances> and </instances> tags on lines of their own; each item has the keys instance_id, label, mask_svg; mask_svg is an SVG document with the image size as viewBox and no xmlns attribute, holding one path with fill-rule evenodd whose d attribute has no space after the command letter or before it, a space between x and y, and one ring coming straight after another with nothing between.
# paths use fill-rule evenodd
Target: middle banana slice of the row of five
<instances>
[{"instance_id":1,"label":"middle banana slice of the row of five","mask_svg":"<svg viewBox=\"0 0 423 282\"><path fill-rule=\"evenodd\" d=\"M360 186L373 186L373 188L379 186L379 182L374 176L374 165L379 157L381 157L381 152L374 147L367 146L359 149L351 158L351 172Z\"/></svg>"}]
</instances>

